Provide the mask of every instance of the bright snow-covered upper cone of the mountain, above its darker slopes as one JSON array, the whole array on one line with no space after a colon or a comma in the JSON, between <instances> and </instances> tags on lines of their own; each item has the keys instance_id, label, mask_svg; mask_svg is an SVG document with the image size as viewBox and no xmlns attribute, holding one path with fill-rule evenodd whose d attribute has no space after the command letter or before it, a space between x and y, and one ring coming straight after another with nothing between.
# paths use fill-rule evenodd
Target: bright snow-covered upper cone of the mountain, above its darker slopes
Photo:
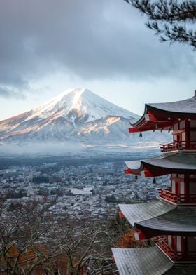
<instances>
[{"instance_id":1,"label":"bright snow-covered upper cone of the mountain, above its darker slopes","mask_svg":"<svg viewBox=\"0 0 196 275\"><path fill-rule=\"evenodd\" d=\"M136 114L113 105L86 88L65 90L44 105L34 109L34 114L29 119L34 116L43 118L52 114L55 114L56 117L64 116L64 118L71 120L73 123L90 122L106 116L123 116L127 119L138 117Z\"/></svg>"}]
</instances>

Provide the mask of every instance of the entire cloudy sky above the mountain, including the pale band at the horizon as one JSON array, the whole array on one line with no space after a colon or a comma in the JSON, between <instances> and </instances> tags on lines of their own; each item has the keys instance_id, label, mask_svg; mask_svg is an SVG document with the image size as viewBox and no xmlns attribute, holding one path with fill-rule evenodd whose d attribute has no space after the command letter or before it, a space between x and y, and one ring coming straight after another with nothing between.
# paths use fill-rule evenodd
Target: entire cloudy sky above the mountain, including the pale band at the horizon
<instances>
[{"instance_id":1,"label":"entire cloudy sky above the mountain, including the pale band at the horizon","mask_svg":"<svg viewBox=\"0 0 196 275\"><path fill-rule=\"evenodd\" d=\"M193 96L195 52L123 0L0 0L0 119L85 87L137 114Z\"/></svg>"}]
</instances>

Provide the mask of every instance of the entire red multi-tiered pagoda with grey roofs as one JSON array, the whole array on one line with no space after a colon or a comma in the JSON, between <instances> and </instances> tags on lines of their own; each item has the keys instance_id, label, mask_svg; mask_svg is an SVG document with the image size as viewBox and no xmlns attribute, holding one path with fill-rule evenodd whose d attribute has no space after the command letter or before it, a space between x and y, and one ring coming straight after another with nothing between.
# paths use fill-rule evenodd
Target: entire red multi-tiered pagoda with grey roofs
<instances>
[{"instance_id":1,"label":"entire red multi-tiered pagoda with grey roofs","mask_svg":"<svg viewBox=\"0 0 196 275\"><path fill-rule=\"evenodd\" d=\"M171 175L158 200L121 204L120 211L137 233L154 238L149 248L112 248L120 275L196 274L196 91L188 100L146 104L130 133L172 131L173 142L160 145L162 156L127 161L125 173L143 177ZM141 134L140 134L141 135Z\"/></svg>"}]
</instances>

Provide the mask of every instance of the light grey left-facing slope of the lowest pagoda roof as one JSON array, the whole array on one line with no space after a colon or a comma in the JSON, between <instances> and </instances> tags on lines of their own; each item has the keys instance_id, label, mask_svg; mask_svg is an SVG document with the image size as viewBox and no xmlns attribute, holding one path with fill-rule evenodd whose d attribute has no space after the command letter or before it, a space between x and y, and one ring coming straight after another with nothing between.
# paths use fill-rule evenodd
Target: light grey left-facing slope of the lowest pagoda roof
<instances>
[{"instance_id":1,"label":"light grey left-facing slope of the lowest pagoda roof","mask_svg":"<svg viewBox=\"0 0 196 275\"><path fill-rule=\"evenodd\" d=\"M162 275L174 263L157 247L112 248L120 275Z\"/></svg>"}]
</instances>

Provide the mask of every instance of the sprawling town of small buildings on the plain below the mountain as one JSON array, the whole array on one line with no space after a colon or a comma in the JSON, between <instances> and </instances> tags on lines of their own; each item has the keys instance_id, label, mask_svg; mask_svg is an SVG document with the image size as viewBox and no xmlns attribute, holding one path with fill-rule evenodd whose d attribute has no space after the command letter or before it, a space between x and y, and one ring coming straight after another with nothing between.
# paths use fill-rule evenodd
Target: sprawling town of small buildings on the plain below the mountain
<instances>
[{"instance_id":1,"label":"sprawling town of small buildings on the plain below the mountain","mask_svg":"<svg viewBox=\"0 0 196 275\"><path fill-rule=\"evenodd\" d=\"M68 167L43 163L0 170L0 193L6 209L36 202L48 213L76 218L113 217L116 203L155 199L157 188L167 185L167 176L155 186L151 179L126 175L123 166L118 168L113 162Z\"/></svg>"}]
</instances>

